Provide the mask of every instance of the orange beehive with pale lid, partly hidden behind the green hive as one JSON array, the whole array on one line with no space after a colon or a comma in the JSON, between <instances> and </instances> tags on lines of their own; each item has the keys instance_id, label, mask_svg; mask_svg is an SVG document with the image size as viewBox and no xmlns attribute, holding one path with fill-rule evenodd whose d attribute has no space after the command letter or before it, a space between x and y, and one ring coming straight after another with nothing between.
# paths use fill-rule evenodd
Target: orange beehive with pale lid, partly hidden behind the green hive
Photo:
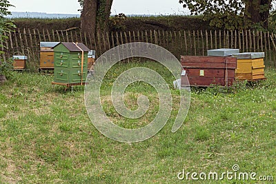
<instances>
[{"instance_id":1,"label":"orange beehive with pale lid, partly hidden behind the green hive","mask_svg":"<svg viewBox=\"0 0 276 184\"><path fill-rule=\"evenodd\" d=\"M40 70L54 69L54 47L59 42L41 42L40 43Z\"/></svg>"}]
</instances>

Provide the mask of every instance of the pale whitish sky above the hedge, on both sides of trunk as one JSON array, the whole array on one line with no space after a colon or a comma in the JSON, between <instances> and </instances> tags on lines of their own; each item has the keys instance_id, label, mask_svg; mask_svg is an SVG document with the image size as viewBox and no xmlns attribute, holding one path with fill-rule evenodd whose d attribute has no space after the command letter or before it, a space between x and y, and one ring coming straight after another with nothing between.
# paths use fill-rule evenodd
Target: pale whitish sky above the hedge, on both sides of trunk
<instances>
[{"instance_id":1,"label":"pale whitish sky above the hedge, on both sides of trunk","mask_svg":"<svg viewBox=\"0 0 276 184\"><path fill-rule=\"evenodd\" d=\"M77 0L10 0L11 12L80 14ZM111 14L188 14L178 0L114 0Z\"/></svg>"}]
</instances>

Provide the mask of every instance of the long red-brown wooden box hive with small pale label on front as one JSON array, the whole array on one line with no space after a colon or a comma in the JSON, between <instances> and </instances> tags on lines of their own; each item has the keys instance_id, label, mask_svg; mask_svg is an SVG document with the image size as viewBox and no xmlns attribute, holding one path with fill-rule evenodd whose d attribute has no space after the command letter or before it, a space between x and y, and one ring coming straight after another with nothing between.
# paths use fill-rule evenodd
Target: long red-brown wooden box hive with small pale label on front
<instances>
[{"instance_id":1,"label":"long red-brown wooden box hive with small pale label on front","mask_svg":"<svg viewBox=\"0 0 276 184\"><path fill-rule=\"evenodd\" d=\"M230 86L235 80L237 58L181 56L181 65L191 86Z\"/></svg>"}]
</instances>

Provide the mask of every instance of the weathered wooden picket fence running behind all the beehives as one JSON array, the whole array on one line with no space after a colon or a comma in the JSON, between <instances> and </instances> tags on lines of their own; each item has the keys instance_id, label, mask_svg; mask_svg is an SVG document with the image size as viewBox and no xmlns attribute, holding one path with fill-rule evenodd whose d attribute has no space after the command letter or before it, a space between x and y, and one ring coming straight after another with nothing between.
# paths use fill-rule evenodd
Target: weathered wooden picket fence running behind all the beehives
<instances>
[{"instance_id":1,"label":"weathered wooden picket fence running behind all the beehives","mask_svg":"<svg viewBox=\"0 0 276 184\"><path fill-rule=\"evenodd\" d=\"M23 29L4 34L7 39L1 43L0 57L4 60L13 55L28 56L34 68L39 65L39 43L41 41L82 42L96 57L117 45L131 42L155 43L166 48L178 59L180 55L206 55L207 50L216 48L239 48L240 52L265 52L265 63L276 67L276 35L273 32L254 30L197 30L165 31L146 30L133 32L106 32L105 34L81 34L75 30L37 30Z\"/></svg>"}]
</instances>

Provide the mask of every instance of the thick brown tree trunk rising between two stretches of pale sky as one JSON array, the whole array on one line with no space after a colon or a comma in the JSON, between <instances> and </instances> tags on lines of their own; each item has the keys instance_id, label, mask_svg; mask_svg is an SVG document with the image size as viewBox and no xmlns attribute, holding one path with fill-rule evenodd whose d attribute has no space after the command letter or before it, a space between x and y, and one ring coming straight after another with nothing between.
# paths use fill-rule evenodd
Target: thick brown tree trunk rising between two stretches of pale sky
<instances>
[{"instance_id":1,"label":"thick brown tree trunk rising between two stretches of pale sky","mask_svg":"<svg viewBox=\"0 0 276 184\"><path fill-rule=\"evenodd\" d=\"M84 0L81 12L81 32L95 35L109 30L109 17L113 0Z\"/></svg>"}]
</instances>

